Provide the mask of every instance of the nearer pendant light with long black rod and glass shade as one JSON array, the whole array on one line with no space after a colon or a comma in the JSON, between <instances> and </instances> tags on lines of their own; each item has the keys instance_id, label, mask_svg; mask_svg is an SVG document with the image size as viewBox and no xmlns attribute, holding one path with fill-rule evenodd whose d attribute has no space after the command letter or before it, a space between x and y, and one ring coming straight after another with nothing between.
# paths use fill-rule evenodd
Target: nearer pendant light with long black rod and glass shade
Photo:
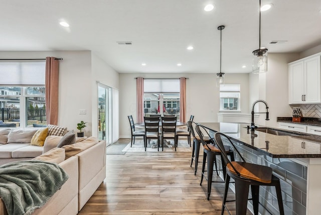
<instances>
[{"instance_id":1,"label":"nearer pendant light with long black rod and glass shade","mask_svg":"<svg viewBox=\"0 0 321 215\"><path fill-rule=\"evenodd\" d=\"M267 49L261 47L261 0L259 8L259 48L252 52L253 62L252 62L252 72L253 73L263 73L267 72Z\"/></svg>"}]
</instances>

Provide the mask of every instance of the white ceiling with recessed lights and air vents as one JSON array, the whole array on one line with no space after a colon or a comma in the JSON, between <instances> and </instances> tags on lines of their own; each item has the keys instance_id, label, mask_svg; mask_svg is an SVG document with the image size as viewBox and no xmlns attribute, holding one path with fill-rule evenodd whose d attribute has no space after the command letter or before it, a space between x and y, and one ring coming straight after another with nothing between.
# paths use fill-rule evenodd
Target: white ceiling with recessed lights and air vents
<instances>
[{"instance_id":1,"label":"white ceiling with recessed lights and air vents","mask_svg":"<svg viewBox=\"0 0 321 215\"><path fill-rule=\"evenodd\" d=\"M205 12L209 3L216 8ZM261 46L269 53L321 44L320 0L261 5L267 3L273 7L261 12ZM0 5L0 51L91 50L118 72L217 73L220 25L225 25L222 72L250 72L251 53L259 46L258 0L0 0ZM63 20L69 28L59 25ZM269 44L275 40L287 42ZM187 50L189 45L194 49Z\"/></svg>"}]
</instances>

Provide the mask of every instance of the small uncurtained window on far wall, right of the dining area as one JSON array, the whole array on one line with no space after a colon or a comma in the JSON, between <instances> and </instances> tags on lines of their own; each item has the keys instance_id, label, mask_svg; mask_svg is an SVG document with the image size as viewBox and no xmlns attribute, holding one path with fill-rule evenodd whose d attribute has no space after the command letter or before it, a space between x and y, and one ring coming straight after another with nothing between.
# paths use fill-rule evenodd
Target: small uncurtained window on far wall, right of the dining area
<instances>
[{"instance_id":1,"label":"small uncurtained window on far wall, right of the dining area","mask_svg":"<svg viewBox=\"0 0 321 215\"><path fill-rule=\"evenodd\" d=\"M220 85L220 111L240 111L240 84Z\"/></svg>"}]
</instances>

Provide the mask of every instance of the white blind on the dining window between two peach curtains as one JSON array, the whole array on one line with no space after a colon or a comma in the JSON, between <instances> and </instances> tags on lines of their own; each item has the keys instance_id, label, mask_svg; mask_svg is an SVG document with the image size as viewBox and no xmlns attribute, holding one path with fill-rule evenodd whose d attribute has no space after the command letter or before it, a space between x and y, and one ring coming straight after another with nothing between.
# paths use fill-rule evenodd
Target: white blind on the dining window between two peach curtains
<instances>
[{"instance_id":1,"label":"white blind on the dining window between two peach curtains","mask_svg":"<svg viewBox=\"0 0 321 215\"><path fill-rule=\"evenodd\" d=\"M144 92L180 92L180 79L144 79Z\"/></svg>"}]
</instances>

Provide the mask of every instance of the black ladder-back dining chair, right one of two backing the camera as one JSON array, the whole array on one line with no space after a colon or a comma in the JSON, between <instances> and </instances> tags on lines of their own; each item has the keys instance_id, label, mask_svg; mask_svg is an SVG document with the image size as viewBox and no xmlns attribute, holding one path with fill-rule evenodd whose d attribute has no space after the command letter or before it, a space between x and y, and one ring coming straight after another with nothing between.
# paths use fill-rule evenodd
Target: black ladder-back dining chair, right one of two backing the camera
<instances>
[{"instance_id":1,"label":"black ladder-back dining chair, right one of two backing the camera","mask_svg":"<svg viewBox=\"0 0 321 215\"><path fill-rule=\"evenodd\" d=\"M162 117L162 151L164 151L164 139L173 139L176 151L176 121L177 117Z\"/></svg>"}]
</instances>

